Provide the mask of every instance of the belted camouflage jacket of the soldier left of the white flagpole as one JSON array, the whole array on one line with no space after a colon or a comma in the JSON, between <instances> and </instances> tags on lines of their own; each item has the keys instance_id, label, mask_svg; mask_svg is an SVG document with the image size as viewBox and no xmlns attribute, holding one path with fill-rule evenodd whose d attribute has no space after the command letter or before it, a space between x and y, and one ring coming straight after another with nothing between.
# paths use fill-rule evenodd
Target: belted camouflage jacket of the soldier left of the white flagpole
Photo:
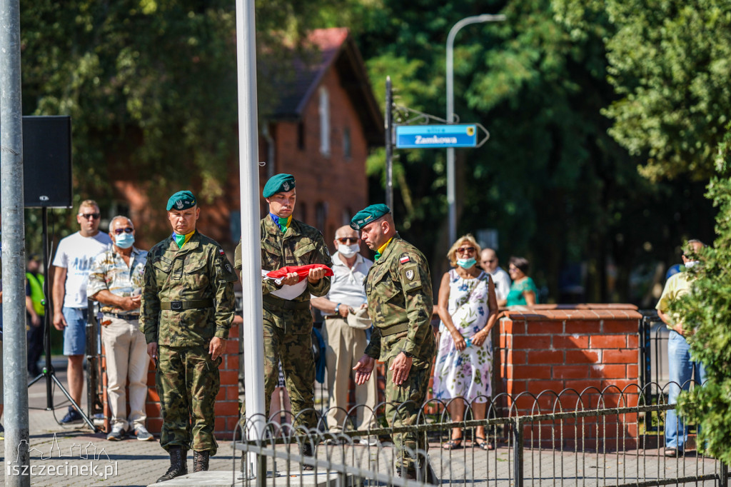
<instances>
[{"instance_id":1,"label":"belted camouflage jacket of the soldier left of the white flagpole","mask_svg":"<svg viewBox=\"0 0 731 487\"><path fill-rule=\"evenodd\" d=\"M182 249L172 236L157 243L147 256L140 309L147 342L191 347L207 346L213 336L227 339L236 280L221 246L201 233ZM192 309L185 309L186 303Z\"/></svg>"}]
</instances>

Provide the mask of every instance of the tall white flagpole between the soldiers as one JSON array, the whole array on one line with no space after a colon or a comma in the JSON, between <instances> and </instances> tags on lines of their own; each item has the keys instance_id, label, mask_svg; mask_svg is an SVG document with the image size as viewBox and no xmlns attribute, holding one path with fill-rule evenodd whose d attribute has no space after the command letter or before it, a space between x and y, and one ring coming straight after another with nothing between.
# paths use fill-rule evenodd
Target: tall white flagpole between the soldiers
<instances>
[{"instance_id":1,"label":"tall white flagpole between the soldiers","mask_svg":"<svg viewBox=\"0 0 731 487\"><path fill-rule=\"evenodd\" d=\"M263 439L264 326L262 325L262 256L259 231L259 132L257 127L257 44L254 0L236 0L238 66L238 137L241 202L241 287L243 292L243 355L246 369L246 434ZM248 471L257 472L262 462L247 454ZM257 467L258 464L258 467ZM265 468L265 465L264 465ZM255 474L256 475L256 474ZM263 481L263 480L262 480Z\"/></svg>"}]
</instances>

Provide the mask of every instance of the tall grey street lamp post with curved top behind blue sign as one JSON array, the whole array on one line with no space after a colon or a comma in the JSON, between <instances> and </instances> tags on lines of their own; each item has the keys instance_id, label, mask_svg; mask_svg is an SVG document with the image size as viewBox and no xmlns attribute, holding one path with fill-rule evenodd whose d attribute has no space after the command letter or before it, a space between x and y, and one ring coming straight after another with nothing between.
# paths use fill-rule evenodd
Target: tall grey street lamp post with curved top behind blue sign
<instances>
[{"instance_id":1,"label":"tall grey street lamp post with curved top behind blue sign","mask_svg":"<svg viewBox=\"0 0 731 487\"><path fill-rule=\"evenodd\" d=\"M447 124L454 122L454 45L458 31L471 23L501 22L505 15L474 15L455 23L447 35ZM447 205L449 205L450 245L457 239L457 207L455 205L455 150L447 148Z\"/></svg>"}]
</instances>

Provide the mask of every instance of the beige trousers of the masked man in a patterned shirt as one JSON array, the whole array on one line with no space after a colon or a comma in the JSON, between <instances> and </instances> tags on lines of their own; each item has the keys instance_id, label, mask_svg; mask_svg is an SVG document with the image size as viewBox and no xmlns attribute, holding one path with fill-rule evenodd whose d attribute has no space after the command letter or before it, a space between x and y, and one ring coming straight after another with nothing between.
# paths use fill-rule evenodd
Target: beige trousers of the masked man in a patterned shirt
<instances>
[{"instance_id":1,"label":"beige trousers of the masked man in a patterned shirt","mask_svg":"<svg viewBox=\"0 0 731 487\"><path fill-rule=\"evenodd\" d=\"M107 358L107 397L112 410L112 426L126 431L138 424L145 426L145 399L147 398L147 355L145 336L140 332L139 320L122 320L105 315L102 326L102 344ZM124 386L129 377L129 417L126 415Z\"/></svg>"}]
</instances>

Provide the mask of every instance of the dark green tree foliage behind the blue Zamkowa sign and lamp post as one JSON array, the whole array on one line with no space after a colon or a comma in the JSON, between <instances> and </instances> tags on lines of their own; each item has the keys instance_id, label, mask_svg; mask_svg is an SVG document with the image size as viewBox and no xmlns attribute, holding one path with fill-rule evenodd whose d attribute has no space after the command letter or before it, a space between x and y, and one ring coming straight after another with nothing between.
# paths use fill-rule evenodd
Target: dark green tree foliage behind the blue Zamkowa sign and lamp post
<instances>
[{"instance_id":1,"label":"dark green tree foliage behind the blue Zamkowa sign and lamp post","mask_svg":"<svg viewBox=\"0 0 731 487\"><path fill-rule=\"evenodd\" d=\"M507 20L466 26L456 37L455 111L491 132L482 148L457 151L458 233L499 230L501 262L529 257L552 301L628 300L639 264L676 256L681 235L711 234L695 213L709 214L711 205L702 184L648 183L637 174L641 159L607 134L602 110L618 96L607 82L606 16L596 13L577 35L544 0L382 0L353 26L376 96L383 99L390 75L397 103L444 116L447 34L480 13ZM382 157L369 165L374 200L382 199ZM394 183L399 220L433 263L443 263L444 151L395 157L395 174L404 174ZM583 284L584 294L561 295L568 284Z\"/></svg>"}]
</instances>

